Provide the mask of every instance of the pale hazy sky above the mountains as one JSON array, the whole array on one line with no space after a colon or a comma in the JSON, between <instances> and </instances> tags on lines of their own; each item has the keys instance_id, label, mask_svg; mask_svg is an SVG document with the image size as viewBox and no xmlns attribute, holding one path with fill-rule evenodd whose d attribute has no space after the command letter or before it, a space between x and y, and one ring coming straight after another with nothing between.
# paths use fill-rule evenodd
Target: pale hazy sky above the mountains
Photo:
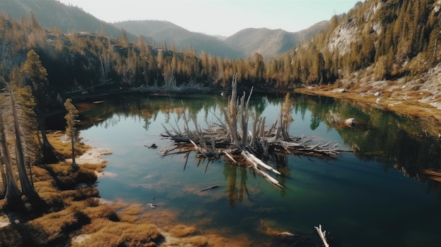
<instances>
[{"instance_id":1,"label":"pale hazy sky above the mountains","mask_svg":"<svg viewBox=\"0 0 441 247\"><path fill-rule=\"evenodd\" d=\"M247 27L297 32L360 0L58 0L100 20L168 20L192 32L230 36ZM364 1L364 0L361 0Z\"/></svg>"}]
</instances>

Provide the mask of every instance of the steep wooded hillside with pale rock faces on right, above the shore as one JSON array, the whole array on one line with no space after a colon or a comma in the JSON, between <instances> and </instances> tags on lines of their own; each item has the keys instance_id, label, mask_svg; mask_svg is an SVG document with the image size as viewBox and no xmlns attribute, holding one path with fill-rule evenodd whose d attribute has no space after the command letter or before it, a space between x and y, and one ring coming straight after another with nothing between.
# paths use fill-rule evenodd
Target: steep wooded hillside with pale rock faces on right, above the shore
<instances>
[{"instance_id":1,"label":"steep wooded hillside with pale rock faces on right, above the shore","mask_svg":"<svg viewBox=\"0 0 441 247\"><path fill-rule=\"evenodd\" d=\"M440 1L371 0L330 28L270 61L285 83L328 84L364 70L373 80L414 77L439 63ZM285 61L285 62L283 62ZM289 63L289 64L287 64Z\"/></svg>"}]
</instances>

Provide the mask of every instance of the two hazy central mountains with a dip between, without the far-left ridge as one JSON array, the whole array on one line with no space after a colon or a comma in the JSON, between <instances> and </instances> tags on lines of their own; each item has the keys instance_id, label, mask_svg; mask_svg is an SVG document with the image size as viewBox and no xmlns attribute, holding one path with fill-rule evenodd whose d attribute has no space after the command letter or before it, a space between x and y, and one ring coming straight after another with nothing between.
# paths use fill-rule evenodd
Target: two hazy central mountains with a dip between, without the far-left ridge
<instances>
[{"instance_id":1,"label":"two hazy central mountains with a dip between, without the far-left ridge","mask_svg":"<svg viewBox=\"0 0 441 247\"><path fill-rule=\"evenodd\" d=\"M300 32L247 28L224 39L190 32L163 20L128 20L113 24L134 34L142 34L156 41L166 41L169 46L173 43L180 49L191 45L197 51L206 51L213 56L244 58L253 53L260 53L263 58L271 58L289 51L299 42L309 39L320 30L325 30L328 28L328 23L325 20Z\"/></svg>"}]
</instances>

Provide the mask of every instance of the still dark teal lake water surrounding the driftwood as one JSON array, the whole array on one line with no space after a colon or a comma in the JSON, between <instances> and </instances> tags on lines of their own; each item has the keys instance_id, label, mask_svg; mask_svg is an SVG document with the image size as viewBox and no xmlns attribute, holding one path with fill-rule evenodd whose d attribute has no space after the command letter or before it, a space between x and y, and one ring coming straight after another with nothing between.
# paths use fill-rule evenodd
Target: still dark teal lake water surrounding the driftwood
<instances>
[{"instance_id":1,"label":"still dark teal lake water surrounding the driftwood","mask_svg":"<svg viewBox=\"0 0 441 247\"><path fill-rule=\"evenodd\" d=\"M284 96L256 94L251 109L269 125ZM228 97L122 94L78 102L77 108L86 143L112 152L105 170L113 176L100 177L97 185L105 200L155 203L156 209L146 210L173 212L176 224L194 225L199 234L247 239L251 246L297 244L275 237L278 232L300 234L304 246L320 246L318 224L330 232L331 246L439 246L441 183L422 171L440 169L440 140L419 137L423 127L406 116L323 97L292 99L290 134L356 151L335 160L278 157L271 165L283 174L276 177L281 190L227 160L159 153L173 148L173 141L161 137L164 126L183 129L184 112L197 115L201 127L216 123ZM347 118L359 125L346 127ZM158 148L148 148L151 144ZM218 188L200 191L215 184Z\"/></svg>"}]
</instances>

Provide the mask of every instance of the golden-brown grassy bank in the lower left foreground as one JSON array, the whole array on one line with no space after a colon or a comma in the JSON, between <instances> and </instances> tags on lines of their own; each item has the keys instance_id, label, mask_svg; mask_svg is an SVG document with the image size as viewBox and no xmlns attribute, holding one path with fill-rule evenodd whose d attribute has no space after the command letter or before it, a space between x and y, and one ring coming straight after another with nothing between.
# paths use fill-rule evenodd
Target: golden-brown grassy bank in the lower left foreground
<instances>
[{"instance_id":1,"label":"golden-brown grassy bank in the lower left foreground","mask_svg":"<svg viewBox=\"0 0 441 247\"><path fill-rule=\"evenodd\" d=\"M244 236L225 238L216 229L180 224L169 210L101 200L94 185L105 174L106 161L99 156L106 153L83 144L74 172L70 143L63 139L61 132L49 134L65 161L32 167L44 212L8 209L6 199L0 201L0 246L249 246Z\"/></svg>"}]
</instances>

